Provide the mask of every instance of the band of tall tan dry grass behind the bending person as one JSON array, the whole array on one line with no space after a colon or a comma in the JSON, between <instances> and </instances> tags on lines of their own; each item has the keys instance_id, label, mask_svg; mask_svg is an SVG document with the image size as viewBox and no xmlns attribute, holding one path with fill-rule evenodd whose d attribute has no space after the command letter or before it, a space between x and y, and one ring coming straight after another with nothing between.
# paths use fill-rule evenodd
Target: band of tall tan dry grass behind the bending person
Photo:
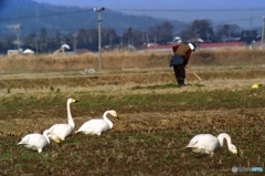
<instances>
[{"instance_id":1,"label":"band of tall tan dry grass behind the bending person","mask_svg":"<svg viewBox=\"0 0 265 176\"><path fill-rule=\"evenodd\" d=\"M103 70L126 69L166 69L169 68L171 52L106 52L103 53ZM264 64L263 50L198 50L192 54L190 64L198 65L250 65ZM2 73L25 72L68 72L98 68L98 55L21 55L15 58L1 56Z\"/></svg>"}]
</instances>

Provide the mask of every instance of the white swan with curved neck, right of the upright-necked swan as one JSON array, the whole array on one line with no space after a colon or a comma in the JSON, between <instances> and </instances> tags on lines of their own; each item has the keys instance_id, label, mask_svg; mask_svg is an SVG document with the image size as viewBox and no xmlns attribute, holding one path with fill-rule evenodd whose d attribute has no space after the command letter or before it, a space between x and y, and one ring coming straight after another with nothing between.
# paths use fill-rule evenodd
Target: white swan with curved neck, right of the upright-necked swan
<instances>
[{"instance_id":1,"label":"white swan with curved neck, right of the upright-necked swan","mask_svg":"<svg viewBox=\"0 0 265 176\"><path fill-rule=\"evenodd\" d=\"M113 122L107 118L107 114L118 118L116 111L106 111L103 114L103 118L93 118L85 122L75 133L82 132L84 134L100 135L102 133L107 132L108 130L113 128Z\"/></svg>"}]
</instances>

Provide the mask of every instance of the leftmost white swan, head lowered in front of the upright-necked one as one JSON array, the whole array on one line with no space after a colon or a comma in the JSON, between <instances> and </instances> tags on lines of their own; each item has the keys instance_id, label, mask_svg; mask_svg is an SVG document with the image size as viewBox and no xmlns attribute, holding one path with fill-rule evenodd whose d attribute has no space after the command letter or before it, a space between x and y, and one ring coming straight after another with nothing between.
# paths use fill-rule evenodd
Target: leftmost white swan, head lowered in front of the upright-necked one
<instances>
[{"instance_id":1,"label":"leftmost white swan, head lowered in front of the upright-necked one","mask_svg":"<svg viewBox=\"0 0 265 176\"><path fill-rule=\"evenodd\" d=\"M24 145L26 148L38 151L39 153L50 144L50 138L60 144L60 138L52 132L47 130L43 132L43 134L33 133L25 135L18 145Z\"/></svg>"}]
</instances>

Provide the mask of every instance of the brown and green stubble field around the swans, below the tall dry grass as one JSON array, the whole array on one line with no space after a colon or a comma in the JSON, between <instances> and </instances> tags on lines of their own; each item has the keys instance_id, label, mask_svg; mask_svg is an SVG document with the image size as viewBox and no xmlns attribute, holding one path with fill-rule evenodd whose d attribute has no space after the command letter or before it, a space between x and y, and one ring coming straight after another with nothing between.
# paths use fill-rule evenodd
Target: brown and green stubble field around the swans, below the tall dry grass
<instances>
[{"instance_id":1,"label":"brown and green stubble field around the swans, below the tall dry grass","mask_svg":"<svg viewBox=\"0 0 265 176\"><path fill-rule=\"evenodd\" d=\"M2 75L0 175L236 175L232 167L264 167L263 65L194 66L186 87L176 87L172 70L130 70L78 75ZM168 85L168 86L165 86ZM28 133L66 122L72 105L76 127L105 110L120 120L102 136L73 134L38 154L15 145ZM248 103L250 100L250 103ZM56 102L57 101L57 102ZM119 103L121 102L121 103ZM123 103L125 102L125 103ZM226 145L213 158L187 151L198 133L226 132L241 157ZM264 173L237 173L239 175Z\"/></svg>"}]
</instances>

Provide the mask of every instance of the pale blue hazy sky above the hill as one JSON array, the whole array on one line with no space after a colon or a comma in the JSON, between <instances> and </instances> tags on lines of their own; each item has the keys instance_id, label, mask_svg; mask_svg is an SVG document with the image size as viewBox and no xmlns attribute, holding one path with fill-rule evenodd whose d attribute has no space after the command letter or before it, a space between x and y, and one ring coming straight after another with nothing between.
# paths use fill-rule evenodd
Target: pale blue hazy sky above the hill
<instances>
[{"instance_id":1,"label":"pale blue hazy sky above the hill","mask_svg":"<svg viewBox=\"0 0 265 176\"><path fill-rule=\"evenodd\" d=\"M191 22L209 19L213 24L233 23L251 29L263 25L264 0L34 0L81 8L105 7L130 14ZM104 15L104 13L103 13Z\"/></svg>"}]
</instances>

